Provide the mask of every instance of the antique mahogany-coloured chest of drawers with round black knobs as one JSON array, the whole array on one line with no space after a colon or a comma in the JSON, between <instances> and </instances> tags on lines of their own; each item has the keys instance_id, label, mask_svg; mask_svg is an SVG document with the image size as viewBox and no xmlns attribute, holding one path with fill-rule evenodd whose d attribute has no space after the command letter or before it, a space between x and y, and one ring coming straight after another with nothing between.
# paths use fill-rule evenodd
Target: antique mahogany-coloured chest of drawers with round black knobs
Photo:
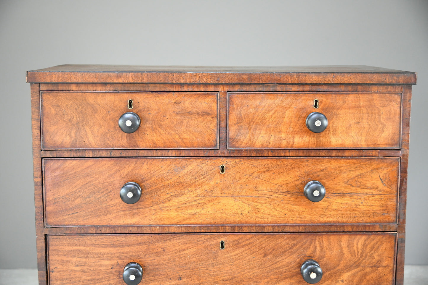
<instances>
[{"instance_id":1,"label":"antique mahogany-coloured chest of drawers with round black knobs","mask_svg":"<svg viewBox=\"0 0 428 285\"><path fill-rule=\"evenodd\" d=\"M416 73L60 65L27 82L39 284L403 284Z\"/></svg>"}]
</instances>

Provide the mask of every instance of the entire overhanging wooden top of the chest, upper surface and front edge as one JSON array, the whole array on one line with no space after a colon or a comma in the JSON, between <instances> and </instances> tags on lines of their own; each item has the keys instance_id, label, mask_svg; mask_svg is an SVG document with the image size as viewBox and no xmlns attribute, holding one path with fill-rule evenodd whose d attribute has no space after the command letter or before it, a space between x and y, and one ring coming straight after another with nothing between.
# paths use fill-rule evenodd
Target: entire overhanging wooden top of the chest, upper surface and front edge
<instances>
[{"instance_id":1,"label":"entire overhanging wooden top of the chest, upper surface and front edge","mask_svg":"<svg viewBox=\"0 0 428 285\"><path fill-rule=\"evenodd\" d=\"M31 83L415 84L416 73L369 66L174 67L59 65L27 71Z\"/></svg>"}]
</instances>

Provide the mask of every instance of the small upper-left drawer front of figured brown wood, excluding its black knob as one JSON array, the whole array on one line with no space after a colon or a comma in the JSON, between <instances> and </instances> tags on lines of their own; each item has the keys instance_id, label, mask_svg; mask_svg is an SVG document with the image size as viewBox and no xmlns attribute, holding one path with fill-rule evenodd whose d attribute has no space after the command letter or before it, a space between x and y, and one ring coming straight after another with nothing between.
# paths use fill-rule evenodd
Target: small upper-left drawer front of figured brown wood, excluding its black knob
<instances>
[{"instance_id":1,"label":"small upper-left drawer front of figured brown wood, excluding its black knob","mask_svg":"<svg viewBox=\"0 0 428 285\"><path fill-rule=\"evenodd\" d=\"M132 100L132 109L128 109ZM217 149L217 92L41 92L42 149ZM119 127L140 117L133 133Z\"/></svg>"}]
</instances>

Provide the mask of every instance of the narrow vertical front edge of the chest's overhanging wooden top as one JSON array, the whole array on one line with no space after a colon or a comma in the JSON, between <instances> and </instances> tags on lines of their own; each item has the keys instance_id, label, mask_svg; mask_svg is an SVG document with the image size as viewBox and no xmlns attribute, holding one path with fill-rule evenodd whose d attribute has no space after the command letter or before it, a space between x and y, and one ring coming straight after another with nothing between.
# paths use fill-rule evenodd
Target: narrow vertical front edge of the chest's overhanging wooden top
<instances>
[{"instance_id":1,"label":"narrow vertical front edge of the chest's overhanging wooden top","mask_svg":"<svg viewBox=\"0 0 428 285\"><path fill-rule=\"evenodd\" d=\"M265 83L265 84L414 84L412 73L131 73L131 72L28 72L28 83Z\"/></svg>"}]
</instances>

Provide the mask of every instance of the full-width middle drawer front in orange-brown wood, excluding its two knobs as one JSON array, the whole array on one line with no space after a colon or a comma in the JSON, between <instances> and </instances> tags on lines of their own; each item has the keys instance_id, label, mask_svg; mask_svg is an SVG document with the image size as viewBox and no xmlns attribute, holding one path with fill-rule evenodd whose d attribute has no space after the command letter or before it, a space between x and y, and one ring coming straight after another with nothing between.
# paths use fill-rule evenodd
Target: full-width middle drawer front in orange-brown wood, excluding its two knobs
<instances>
[{"instance_id":1,"label":"full-width middle drawer front in orange-brown wood, excluding its two knobs","mask_svg":"<svg viewBox=\"0 0 428 285\"><path fill-rule=\"evenodd\" d=\"M399 158L44 159L45 222L396 223L399 164ZM310 181L325 188L319 202L303 194ZM120 197L127 182L142 189L137 203Z\"/></svg>"}]
</instances>

